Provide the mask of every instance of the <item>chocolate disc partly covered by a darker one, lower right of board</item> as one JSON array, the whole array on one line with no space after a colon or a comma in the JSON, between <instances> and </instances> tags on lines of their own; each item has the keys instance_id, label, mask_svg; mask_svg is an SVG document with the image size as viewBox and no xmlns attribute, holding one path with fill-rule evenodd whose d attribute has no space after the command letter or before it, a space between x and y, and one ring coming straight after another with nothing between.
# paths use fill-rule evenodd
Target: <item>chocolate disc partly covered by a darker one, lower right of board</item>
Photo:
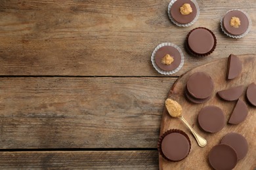
<instances>
[{"instance_id":1,"label":"chocolate disc partly covered by a darker one, lower right of board","mask_svg":"<svg viewBox=\"0 0 256 170\"><path fill-rule=\"evenodd\" d=\"M242 160L248 152L248 143L242 135L239 133L228 133L223 139L221 139L222 144L227 144L236 150L238 155L238 160Z\"/></svg>"}]
</instances>

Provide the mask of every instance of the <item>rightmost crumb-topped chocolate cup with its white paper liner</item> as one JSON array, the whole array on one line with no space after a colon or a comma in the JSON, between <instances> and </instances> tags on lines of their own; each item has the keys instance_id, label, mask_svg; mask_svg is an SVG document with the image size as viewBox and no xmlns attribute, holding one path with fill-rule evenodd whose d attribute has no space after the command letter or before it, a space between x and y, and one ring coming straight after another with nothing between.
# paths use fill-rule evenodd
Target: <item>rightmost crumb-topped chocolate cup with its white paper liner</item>
<instances>
[{"instance_id":1,"label":"rightmost crumb-topped chocolate cup with its white paper liner","mask_svg":"<svg viewBox=\"0 0 256 170\"><path fill-rule=\"evenodd\" d=\"M242 38L249 33L250 28L251 19L242 10L229 10L221 18L221 29L229 37Z\"/></svg>"}]
</instances>

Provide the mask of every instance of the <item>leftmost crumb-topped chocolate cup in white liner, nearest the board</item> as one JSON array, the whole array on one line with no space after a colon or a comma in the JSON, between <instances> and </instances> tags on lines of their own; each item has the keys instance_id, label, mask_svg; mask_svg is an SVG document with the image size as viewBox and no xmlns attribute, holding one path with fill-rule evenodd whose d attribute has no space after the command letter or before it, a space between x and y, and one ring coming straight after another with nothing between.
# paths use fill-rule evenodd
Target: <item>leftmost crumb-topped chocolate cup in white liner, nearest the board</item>
<instances>
[{"instance_id":1,"label":"leftmost crumb-topped chocolate cup in white liner, nearest the board","mask_svg":"<svg viewBox=\"0 0 256 170\"><path fill-rule=\"evenodd\" d=\"M165 42L155 48L151 61L158 73L171 75L181 69L184 55L179 46Z\"/></svg>"}]
</instances>

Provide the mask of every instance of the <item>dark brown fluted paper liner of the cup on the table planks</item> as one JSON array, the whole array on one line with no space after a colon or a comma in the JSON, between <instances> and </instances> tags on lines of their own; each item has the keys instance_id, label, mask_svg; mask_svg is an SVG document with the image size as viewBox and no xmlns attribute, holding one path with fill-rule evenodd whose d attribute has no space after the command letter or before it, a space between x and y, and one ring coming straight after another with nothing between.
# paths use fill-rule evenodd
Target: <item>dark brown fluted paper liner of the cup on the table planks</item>
<instances>
[{"instance_id":1,"label":"dark brown fluted paper liner of the cup on the table planks","mask_svg":"<svg viewBox=\"0 0 256 170\"><path fill-rule=\"evenodd\" d=\"M211 50L209 52L205 53L205 54L198 54L198 53L194 52L193 50L191 50L191 48L188 46L188 37L189 37L190 33L192 33L192 31L194 31L195 29L199 29L199 28L206 29L207 31L209 31L211 33L211 35L213 35L213 39L214 39L213 48L211 48ZM188 50L188 52L190 52L190 54L192 54L192 55L194 55L196 57L204 57L204 56L209 56L209 54L214 52L214 50L215 50L215 48L217 46L217 39L216 39L213 31L211 31L210 29L207 29L206 27L196 27L196 28L192 29L188 33L188 35L186 35L186 43L185 44L186 44L186 49Z\"/></svg>"}]
</instances>

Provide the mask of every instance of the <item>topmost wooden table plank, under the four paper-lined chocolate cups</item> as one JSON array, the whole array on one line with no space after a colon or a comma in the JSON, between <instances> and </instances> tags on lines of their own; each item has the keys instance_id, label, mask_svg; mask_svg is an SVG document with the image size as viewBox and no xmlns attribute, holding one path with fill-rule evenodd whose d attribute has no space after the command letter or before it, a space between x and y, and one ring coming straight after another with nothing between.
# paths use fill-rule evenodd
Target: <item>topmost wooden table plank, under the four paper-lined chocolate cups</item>
<instances>
[{"instance_id":1,"label":"topmost wooden table plank, under the four paper-lined chocolate cups","mask_svg":"<svg viewBox=\"0 0 256 170\"><path fill-rule=\"evenodd\" d=\"M176 76L229 54L256 54L256 26L240 40L220 30L227 10L242 9L256 23L256 1L198 0L200 18L191 27L171 24L169 0L0 1L0 75L158 76L150 56L161 42L186 56ZM190 29L205 26L217 37L211 56L184 50Z\"/></svg>"}]
</instances>

